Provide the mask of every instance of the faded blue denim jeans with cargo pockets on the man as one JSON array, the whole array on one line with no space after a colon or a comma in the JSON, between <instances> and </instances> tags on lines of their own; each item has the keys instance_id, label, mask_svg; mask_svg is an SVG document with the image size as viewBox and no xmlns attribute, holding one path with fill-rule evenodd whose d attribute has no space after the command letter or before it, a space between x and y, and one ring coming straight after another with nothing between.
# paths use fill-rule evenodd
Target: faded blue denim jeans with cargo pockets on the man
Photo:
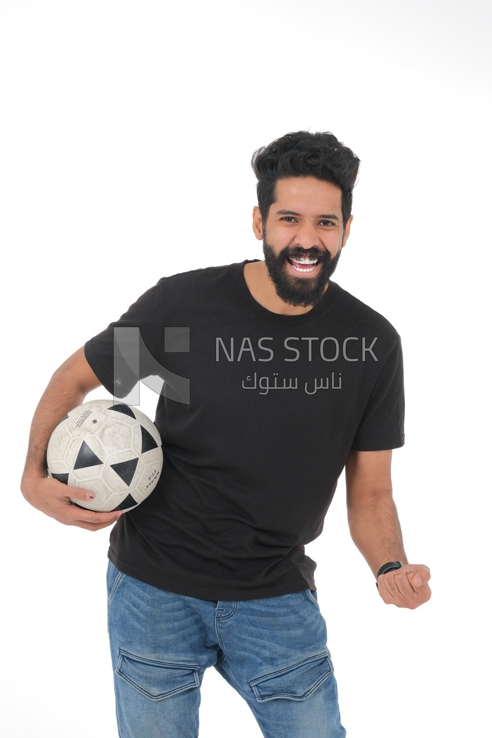
<instances>
[{"instance_id":1,"label":"faded blue denim jeans with cargo pockets on the man","mask_svg":"<svg viewBox=\"0 0 492 738\"><path fill-rule=\"evenodd\" d=\"M140 582L111 561L107 586L120 738L196 738L209 666L246 700L265 738L346 736L314 590L196 599Z\"/></svg>"}]
</instances>

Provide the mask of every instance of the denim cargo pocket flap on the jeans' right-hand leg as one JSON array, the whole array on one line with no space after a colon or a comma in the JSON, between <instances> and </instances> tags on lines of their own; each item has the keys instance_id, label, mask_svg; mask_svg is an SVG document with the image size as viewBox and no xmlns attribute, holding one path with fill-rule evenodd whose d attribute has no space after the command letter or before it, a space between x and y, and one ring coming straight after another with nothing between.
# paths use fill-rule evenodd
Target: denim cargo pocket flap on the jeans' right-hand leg
<instances>
[{"instance_id":1,"label":"denim cargo pocket flap on the jeans' right-hand leg","mask_svg":"<svg viewBox=\"0 0 492 738\"><path fill-rule=\"evenodd\" d=\"M258 677L249 683L258 702L267 700L305 700L333 674L330 652L325 651L286 669Z\"/></svg>"}]
</instances>

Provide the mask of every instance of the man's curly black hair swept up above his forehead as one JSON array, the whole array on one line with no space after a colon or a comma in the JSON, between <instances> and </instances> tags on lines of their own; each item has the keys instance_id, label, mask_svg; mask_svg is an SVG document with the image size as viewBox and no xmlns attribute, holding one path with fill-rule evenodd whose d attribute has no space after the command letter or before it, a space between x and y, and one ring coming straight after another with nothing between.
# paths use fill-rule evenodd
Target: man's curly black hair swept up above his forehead
<instances>
[{"instance_id":1,"label":"man's curly black hair swept up above his forehead","mask_svg":"<svg viewBox=\"0 0 492 738\"><path fill-rule=\"evenodd\" d=\"M251 165L257 177L257 198L263 223L275 202L277 179L316 177L342 190L343 227L352 213L352 190L361 160L330 131L297 131L254 151Z\"/></svg>"}]
</instances>

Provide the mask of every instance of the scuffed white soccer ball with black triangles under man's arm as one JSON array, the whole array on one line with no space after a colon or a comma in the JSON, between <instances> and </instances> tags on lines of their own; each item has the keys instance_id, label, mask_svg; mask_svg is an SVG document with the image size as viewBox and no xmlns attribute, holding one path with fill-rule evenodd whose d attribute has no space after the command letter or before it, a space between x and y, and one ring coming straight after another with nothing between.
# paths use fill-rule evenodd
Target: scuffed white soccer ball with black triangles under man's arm
<instances>
[{"instance_id":1,"label":"scuffed white soccer ball with black triangles under man's arm","mask_svg":"<svg viewBox=\"0 0 492 738\"><path fill-rule=\"evenodd\" d=\"M95 493L79 507L126 512L152 492L162 472L162 441L141 410L92 400L70 410L49 439L48 475Z\"/></svg>"}]
</instances>

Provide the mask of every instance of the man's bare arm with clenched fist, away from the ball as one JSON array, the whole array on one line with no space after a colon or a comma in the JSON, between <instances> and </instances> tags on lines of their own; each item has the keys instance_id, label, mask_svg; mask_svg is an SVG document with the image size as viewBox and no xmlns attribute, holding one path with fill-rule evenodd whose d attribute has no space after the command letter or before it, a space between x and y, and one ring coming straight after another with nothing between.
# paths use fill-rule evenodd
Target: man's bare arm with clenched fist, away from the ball
<instances>
[{"instance_id":1,"label":"man's bare arm with clenched fist, away from the ball","mask_svg":"<svg viewBox=\"0 0 492 738\"><path fill-rule=\"evenodd\" d=\"M374 576L382 565L404 566L378 577L378 591L387 604L415 610L431 596L431 573L425 564L409 564L403 548L400 521L392 497L392 449L351 449L345 465L347 516L350 535Z\"/></svg>"}]
</instances>

